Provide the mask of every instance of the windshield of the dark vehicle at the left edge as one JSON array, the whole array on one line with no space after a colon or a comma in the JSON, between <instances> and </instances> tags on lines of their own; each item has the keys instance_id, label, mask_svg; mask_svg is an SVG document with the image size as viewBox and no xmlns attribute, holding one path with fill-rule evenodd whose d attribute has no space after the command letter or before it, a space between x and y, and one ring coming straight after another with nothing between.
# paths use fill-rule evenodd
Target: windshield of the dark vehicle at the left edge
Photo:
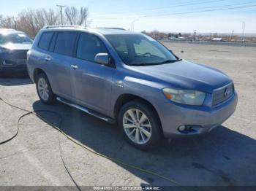
<instances>
[{"instance_id":1,"label":"windshield of the dark vehicle at the left edge","mask_svg":"<svg viewBox=\"0 0 256 191\"><path fill-rule=\"evenodd\" d=\"M0 34L0 44L32 44L32 39L26 34L15 33L15 34Z\"/></svg>"}]
</instances>

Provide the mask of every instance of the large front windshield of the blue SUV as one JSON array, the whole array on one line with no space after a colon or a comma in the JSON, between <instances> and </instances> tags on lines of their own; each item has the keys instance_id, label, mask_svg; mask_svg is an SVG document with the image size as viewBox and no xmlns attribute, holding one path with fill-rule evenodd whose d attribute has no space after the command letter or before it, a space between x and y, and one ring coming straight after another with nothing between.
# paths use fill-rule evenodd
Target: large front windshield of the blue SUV
<instances>
[{"instance_id":1,"label":"large front windshield of the blue SUV","mask_svg":"<svg viewBox=\"0 0 256 191\"><path fill-rule=\"evenodd\" d=\"M121 60L130 66L147 66L178 61L162 44L144 34L105 35Z\"/></svg>"}]
</instances>

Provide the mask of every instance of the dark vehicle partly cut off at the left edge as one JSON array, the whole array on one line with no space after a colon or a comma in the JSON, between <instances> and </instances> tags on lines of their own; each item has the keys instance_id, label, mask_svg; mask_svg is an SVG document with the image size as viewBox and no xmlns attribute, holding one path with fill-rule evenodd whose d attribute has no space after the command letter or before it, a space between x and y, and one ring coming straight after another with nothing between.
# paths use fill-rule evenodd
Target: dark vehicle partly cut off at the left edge
<instances>
[{"instance_id":1,"label":"dark vehicle partly cut off at the left edge","mask_svg":"<svg viewBox=\"0 0 256 191\"><path fill-rule=\"evenodd\" d=\"M0 28L0 77L27 75L26 53L32 43L23 32Z\"/></svg>"}]
</instances>

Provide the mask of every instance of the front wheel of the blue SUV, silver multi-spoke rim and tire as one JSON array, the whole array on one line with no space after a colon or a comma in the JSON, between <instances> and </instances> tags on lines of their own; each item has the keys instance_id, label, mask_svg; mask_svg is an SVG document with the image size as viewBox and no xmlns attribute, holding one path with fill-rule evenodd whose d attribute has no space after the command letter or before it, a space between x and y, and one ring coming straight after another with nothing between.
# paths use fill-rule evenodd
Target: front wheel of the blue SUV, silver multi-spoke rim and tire
<instances>
[{"instance_id":1,"label":"front wheel of the blue SUV, silver multi-spoke rim and tire","mask_svg":"<svg viewBox=\"0 0 256 191\"><path fill-rule=\"evenodd\" d=\"M143 101L130 101L122 106L118 126L127 141L138 149L154 149L161 138L157 113Z\"/></svg>"}]
</instances>

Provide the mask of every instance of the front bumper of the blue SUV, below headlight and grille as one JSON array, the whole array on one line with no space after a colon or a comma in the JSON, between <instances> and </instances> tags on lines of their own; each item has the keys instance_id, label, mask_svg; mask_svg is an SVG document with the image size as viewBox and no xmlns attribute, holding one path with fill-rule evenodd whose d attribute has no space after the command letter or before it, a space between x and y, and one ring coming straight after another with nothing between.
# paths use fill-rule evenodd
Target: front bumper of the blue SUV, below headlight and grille
<instances>
[{"instance_id":1,"label":"front bumper of the blue SUV, below headlight and grille","mask_svg":"<svg viewBox=\"0 0 256 191\"><path fill-rule=\"evenodd\" d=\"M238 95L235 92L227 101L217 106L185 106L168 102L159 109L164 136L192 136L217 128L236 110ZM191 132L181 133L178 127L191 125L196 127Z\"/></svg>"}]
</instances>

